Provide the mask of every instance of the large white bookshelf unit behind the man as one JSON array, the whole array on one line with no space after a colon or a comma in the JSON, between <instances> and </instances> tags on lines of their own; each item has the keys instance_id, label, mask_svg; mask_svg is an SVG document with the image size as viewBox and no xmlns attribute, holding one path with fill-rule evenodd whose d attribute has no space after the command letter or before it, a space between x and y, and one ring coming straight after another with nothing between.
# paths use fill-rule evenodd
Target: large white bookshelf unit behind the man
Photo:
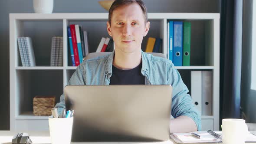
<instances>
[{"instance_id":1,"label":"large white bookshelf unit behind the man","mask_svg":"<svg viewBox=\"0 0 256 144\"><path fill-rule=\"evenodd\" d=\"M56 95L63 92L76 67L70 65L67 26L79 24L89 32L89 52L95 52L101 37L108 36L108 13L10 13L10 130L48 130L47 116L33 115L35 95ZM219 13L148 13L149 33L142 42L144 50L148 37L163 39L161 52L167 55L167 21L191 22L191 66L177 66L190 90L190 71L212 72L212 115L202 115L202 130L219 130ZM33 30L31 30L33 27ZM46 30L45 30L46 29ZM47 31L45 33L44 31ZM101 35L99 35L101 33ZM21 65L17 37L30 36L35 51L35 67ZM63 36L63 66L50 66L51 38Z\"/></svg>"}]
</instances>

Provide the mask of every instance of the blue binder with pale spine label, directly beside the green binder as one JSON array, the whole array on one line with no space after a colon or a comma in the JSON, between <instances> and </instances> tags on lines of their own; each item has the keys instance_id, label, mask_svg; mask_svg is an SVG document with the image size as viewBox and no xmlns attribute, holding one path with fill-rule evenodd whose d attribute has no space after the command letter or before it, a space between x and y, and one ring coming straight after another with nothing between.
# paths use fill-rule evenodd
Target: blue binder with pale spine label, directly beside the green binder
<instances>
[{"instance_id":1,"label":"blue binder with pale spine label, directly beside the green binder","mask_svg":"<svg viewBox=\"0 0 256 144\"><path fill-rule=\"evenodd\" d=\"M183 22L174 21L174 41L173 41L173 63L175 66L182 66L183 50ZM171 44L171 42L170 42Z\"/></svg>"}]
</instances>

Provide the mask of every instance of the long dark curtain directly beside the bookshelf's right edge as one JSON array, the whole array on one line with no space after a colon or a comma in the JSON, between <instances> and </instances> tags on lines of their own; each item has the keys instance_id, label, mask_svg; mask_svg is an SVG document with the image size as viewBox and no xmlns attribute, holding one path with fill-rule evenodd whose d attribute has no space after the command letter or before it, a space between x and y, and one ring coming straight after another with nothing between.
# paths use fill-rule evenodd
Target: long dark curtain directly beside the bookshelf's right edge
<instances>
[{"instance_id":1,"label":"long dark curtain directly beside the bookshelf's right edge","mask_svg":"<svg viewBox=\"0 0 256 144\"><path fill-rule=\"evenodd\" d=\"M220 12L220 124L240 118L243 0L222 0Z\"/></svg>"}]
</instances>

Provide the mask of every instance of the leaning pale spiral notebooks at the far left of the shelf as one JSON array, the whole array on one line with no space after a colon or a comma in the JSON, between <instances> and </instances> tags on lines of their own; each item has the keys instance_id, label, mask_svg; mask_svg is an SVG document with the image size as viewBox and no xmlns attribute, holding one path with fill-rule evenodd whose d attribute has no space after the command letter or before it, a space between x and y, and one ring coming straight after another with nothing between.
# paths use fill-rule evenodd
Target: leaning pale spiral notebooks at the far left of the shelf
<instances>
[{"instance_id":1,"label":"leaning pale spiral notebooks at the far left of the shelf","mask_svg":"<svg viewBox=\"0 0 256 144\"><path fill-rule=\"evenodd\" d=\"M36 66L32 39L30 37L18 37L17 40L22 66Z\"/></svg>"}]
</instances>

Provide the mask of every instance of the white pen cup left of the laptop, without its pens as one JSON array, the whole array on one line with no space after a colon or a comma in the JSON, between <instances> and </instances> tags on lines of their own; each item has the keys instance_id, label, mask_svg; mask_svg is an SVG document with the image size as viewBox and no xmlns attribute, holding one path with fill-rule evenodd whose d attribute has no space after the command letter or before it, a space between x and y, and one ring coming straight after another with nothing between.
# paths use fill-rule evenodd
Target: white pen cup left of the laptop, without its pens
<instances>
[{"instance_id":1,"label":"white pen cup left of the laptop, without its pens","mask_svg":"<svg viewBox=\"0 0 256 144\"><path fill-rule=\"evenodd\" d=\"M49 116L49 130L52 144L70 144L72 127L73 117L53 118L53 116Z\"/></svg>"}]
</instances>

